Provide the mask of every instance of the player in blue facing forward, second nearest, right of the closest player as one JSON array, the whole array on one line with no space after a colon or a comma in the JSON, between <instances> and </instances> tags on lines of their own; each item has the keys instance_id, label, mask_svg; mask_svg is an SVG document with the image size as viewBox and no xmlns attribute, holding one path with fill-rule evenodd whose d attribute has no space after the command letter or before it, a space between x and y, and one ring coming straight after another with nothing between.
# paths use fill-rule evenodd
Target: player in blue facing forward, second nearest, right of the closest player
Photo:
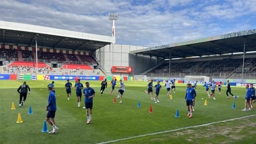
<instances>
[{"instance_id":1,"label":"player in blue facing forward, second nearest, right of the closest player","mask_svg":"<svg viewBox=\"0 0 256 144\"><path fill-rule=\"evenodd\" d=\"M92 106L93 106L93 97L95 96L95 91L90 87L90 83L85 83L85 89L84 89L84 103L86 108L86 115L87 115L87 123L89 124L92 121ZM89 113L90 110L90 113Z\"/></svg>"}]
</instances>

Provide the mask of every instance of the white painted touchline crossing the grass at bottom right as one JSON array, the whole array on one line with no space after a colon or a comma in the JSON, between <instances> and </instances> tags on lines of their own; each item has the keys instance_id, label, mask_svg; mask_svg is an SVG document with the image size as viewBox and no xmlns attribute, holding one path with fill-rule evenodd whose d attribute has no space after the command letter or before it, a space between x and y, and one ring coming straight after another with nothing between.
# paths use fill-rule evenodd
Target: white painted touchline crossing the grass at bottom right
<instances>
[{"instance_id":1,"label":"white painted touchline crossing the grass at bottom right","mask_svg":"<svg viewBox=\"0 0 256 144\"><path fill-rule=\"evenodd\" d=\"M167 133L167 132L175 132L175 131L180 131L180 130L195 128L195 127L202 127L202 126L207 126L207 125L212 125L212 124L218 124L218 123L223 123L223 122L229 122L229 121L234 121L234 120L237 120L237 119L243 119L243 118L254 117L254 116L256 116L256 115L250 115L250 116L243 116L243 117L231 118L231 119L226 119L226 120L223 120L223 121L211 122L211 123L207 123L207 124L200 124L200 125L194 125L194 126L187 126L187 127L182 127L182 128L180 128L180 129L167 130L167 131L162 131L162 132L155 132L155 133L142 134L142 135L137 135L137 136L134 136L134 137L128 137L128 138L122 138L122 139L116 139L116 140L110 140L110 141L100 142L100 143L98 143L98 144L105 144L105 143L117 142L117 141L122 141L122 140L136 139L136 138L146 137L146 136L149 136L149 135L156 135L156 134L162 134L162 133Z\"/></svg>"}]
</instances>

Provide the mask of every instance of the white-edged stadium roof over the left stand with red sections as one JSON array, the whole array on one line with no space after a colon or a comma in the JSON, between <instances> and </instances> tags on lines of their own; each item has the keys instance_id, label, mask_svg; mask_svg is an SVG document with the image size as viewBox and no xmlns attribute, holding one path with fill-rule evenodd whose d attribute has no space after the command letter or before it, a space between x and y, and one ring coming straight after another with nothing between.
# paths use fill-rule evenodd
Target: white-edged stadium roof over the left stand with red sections
<instances>
[{"instance_id":1,"label":"white-edged stadium roof over the left stand with red sections","mask_svg":"<svg viewBox=\"0 0 256 144\"><path fill-rule=\"evenodd\" d=\"M36 38L38 46L83 51L95 51L115 43L111 36L0 21L0 43L35 46Z\"/></svg>"}]
</instances>

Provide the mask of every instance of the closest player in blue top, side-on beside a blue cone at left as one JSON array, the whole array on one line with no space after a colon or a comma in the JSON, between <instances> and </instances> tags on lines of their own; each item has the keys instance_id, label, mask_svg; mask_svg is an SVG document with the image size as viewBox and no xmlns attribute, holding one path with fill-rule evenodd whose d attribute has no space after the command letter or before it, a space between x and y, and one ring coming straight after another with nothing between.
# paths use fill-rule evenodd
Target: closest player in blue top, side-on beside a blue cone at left
<instances>
[{"instance_id":1,"label":"closest player in blue top, side-on beside a blue cone at left","mask_svg":"<svg viewBox=\"0 0 256 144\"><path fill-rule=\"evenodd\" d=\"M58 130L58 127L55 125L55 120L54 120L55 112L57 110L56 95L55 95L55 92L53 92L53 87L49 86L48 91L49 91L48 105L46 106L46 111L48 111L48 113L46 115L45 120L47 123L52 125L52 131L50 131L49 133L54 134Z\"/></svg>"}]
</instances>

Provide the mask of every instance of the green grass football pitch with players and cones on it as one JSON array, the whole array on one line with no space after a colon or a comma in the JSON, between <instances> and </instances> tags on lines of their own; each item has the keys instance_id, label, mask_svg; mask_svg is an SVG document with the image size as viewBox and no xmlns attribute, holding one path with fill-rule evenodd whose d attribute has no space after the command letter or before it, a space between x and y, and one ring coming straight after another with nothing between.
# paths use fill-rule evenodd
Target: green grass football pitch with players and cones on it
<instances>
[{"instance_id":1,"label":"green grass football pitch with players and cones on it","mask_svg":"<svg viewBox=\"0 0 256 144\"><path fill-rule=\"evenodd\" d=\"M85 87L85 81L81 81ZM93 98L92 122L86 124L84 97L82 107L77 108L74 88L71 99L67 100L66 81L55 81L57 96L55 134L42 133L47 111L47 85L51 81L28 81L31 94L28 94L25 105L18 106L18 87L23 81L0 81L0 143L254 143L255 108L242 111L244 108L244 87L231 87L237 99L226 99L226 87L221 94L215 93L217 100L209 99L205 88L198 85L193 118L187 117L184 101L186 85L176 86L173 99L166 96L164 83L159 94L160 103L154 103L143 91L147 82L124 82L123 103L113 102L116 91L109 94L111 86L105 89L102 97L99 81L89 81L95 90ZM71 81L73 87L74 81ZM110 84L110 82L108 82ZM156 82L153 83L155 85ZM117 82L116 89L119 87ZM210 90L209 90L210 92ZM207 106L205 106L207 100ZM140 107L138 102L140 101ZM15 110L11 110L12 102ZM235 107L233 107L235 102ZM28 114L31 106L33 114ZM153 113L149 113L149 107ZM175 117L179 109L179 117ZM16 123L18 113L23 123ZM51 131L52 126L47 124Z\"/></svg>"}]
</instances>

